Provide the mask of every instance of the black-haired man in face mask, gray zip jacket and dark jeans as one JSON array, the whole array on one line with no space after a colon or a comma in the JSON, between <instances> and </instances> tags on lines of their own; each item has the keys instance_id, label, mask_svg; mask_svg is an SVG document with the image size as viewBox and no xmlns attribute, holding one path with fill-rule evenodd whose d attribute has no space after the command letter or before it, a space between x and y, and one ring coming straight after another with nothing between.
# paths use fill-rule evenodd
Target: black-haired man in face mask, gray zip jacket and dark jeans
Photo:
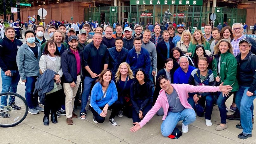
<instances>
[{"instance_id":1,"label":"black-haired man in face mask, gray zip jacket and dark jeans","mask_svg":"<svg viewBox=\"0 0 256 144\"><path fill-rule=\"evenodd\" d=\"M36 78L40 75L41 45L35 42L35 33L33 31L26 31L24 35L27 42L18 49L16 61L21 81L25 82L26 86L25 97L29 108L28 112L38 114L39 111L44 111L44 109L38 105L38 95L33 95L33 92Z\"/></svg>"}]
</instances>

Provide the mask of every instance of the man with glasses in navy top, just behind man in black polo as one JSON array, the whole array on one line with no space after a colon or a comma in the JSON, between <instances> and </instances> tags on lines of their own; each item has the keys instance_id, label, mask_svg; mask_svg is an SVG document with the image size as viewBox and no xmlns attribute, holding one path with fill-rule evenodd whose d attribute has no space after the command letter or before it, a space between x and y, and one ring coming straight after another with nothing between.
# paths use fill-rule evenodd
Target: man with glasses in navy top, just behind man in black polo
<instances>
[{"instance_id":1,"label":"man with glasses in navy top, just behind man in black polo","mask_svg":"<svg viewBox=\"0 0 256 144\"><path fill-rule=\"evenodd\" d=\"M115 39L112 37L113 34L113 27L107 26L105 31L105 37L102 38L102 44L106 45L107 48L112 48L115 45Z\"/></svg>"}]
</instances>

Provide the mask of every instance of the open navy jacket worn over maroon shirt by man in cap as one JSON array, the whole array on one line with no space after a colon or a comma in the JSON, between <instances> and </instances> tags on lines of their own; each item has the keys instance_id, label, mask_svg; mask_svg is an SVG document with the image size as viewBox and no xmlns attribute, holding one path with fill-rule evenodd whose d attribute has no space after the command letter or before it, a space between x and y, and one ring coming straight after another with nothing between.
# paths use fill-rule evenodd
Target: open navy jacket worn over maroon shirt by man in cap
<instances>
[{"instance_id":1,"label":"open navy jacket worn over maroon shirt by man in cap","mask_svg":"<svg viewBox=\"0 0 256 144\"><path fill-rule=\"evenodd\" d=\"M78 51L78 50L77 50ZM81 52L79 52L80 60L82 63ZM64 51L61 55L61 69L63 72L64 78L62 82L72 83L73 81L76 84L77 79L77 70L76 70L76 56L71 52L70 49ZM80 74L82 74L82 64Z\"/></svg>"}]
</instances>

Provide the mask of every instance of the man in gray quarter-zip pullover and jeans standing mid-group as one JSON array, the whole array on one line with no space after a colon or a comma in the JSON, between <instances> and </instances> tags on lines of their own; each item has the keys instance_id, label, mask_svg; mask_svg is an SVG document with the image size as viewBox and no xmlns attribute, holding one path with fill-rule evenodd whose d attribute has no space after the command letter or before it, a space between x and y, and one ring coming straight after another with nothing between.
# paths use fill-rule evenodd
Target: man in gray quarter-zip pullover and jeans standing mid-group
<instances>
[{"instance_id":1,"label":"man in gray quarter-zip pullover and jeans standing mid-group","mask_svg":"<svg viewBox=\"0 0 256 144\"><path fill-rule=\"evenodd\" d=\"M157 57L156 57L156 48L155 44L150 41L151 33L150 30L146 29L143 33L142 45L141 47L145 48L149 52L150 58L150 70L149 70L149 79L154 83L153 79L155 76L156 66L157 66ZM154 93L154 85L152 87L152 92Z\"/></svg>"}]
</instances>

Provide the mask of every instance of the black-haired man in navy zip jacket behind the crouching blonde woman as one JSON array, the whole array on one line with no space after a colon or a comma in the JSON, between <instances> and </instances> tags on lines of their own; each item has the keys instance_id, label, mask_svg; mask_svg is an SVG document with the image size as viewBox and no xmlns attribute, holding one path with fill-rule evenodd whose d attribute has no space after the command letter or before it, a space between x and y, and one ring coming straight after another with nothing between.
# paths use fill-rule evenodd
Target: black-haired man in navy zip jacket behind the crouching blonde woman
<instances>
[{"instance_id":1,"label":"black-haired man in navy zip jacket behind the crouching blonde woman","mask_svg":"<svg viewBox=\"0 0 256 144\"><path fill-rule=\"evenodd\" d=\"M128 50L123 48L123 39L117 37L115 39L115 47L108 49L109 51L109 66L108 69L115 75L119 65L125 62Z\"/></svg>"}]
</instances>

